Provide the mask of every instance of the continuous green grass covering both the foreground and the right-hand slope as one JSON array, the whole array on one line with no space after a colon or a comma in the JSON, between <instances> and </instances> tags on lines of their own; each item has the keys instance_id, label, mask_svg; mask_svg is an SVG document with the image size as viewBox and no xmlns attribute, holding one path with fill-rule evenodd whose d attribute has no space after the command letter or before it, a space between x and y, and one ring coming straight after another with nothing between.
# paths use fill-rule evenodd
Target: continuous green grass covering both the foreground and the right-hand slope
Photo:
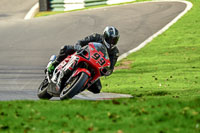
<instances>
[{"instance_id":1,"label":"continuous green grass covering both the foreground and the right-hand slope","mask_svg":"<svg viewBox=\"0 0 200 133\"><path fill-rule=\"evenodd\" d=\"M0 102L0 132L200 132L200 1L165 33L117 64L103 91L110 101Z\"/></svg>"}]
</instances>

